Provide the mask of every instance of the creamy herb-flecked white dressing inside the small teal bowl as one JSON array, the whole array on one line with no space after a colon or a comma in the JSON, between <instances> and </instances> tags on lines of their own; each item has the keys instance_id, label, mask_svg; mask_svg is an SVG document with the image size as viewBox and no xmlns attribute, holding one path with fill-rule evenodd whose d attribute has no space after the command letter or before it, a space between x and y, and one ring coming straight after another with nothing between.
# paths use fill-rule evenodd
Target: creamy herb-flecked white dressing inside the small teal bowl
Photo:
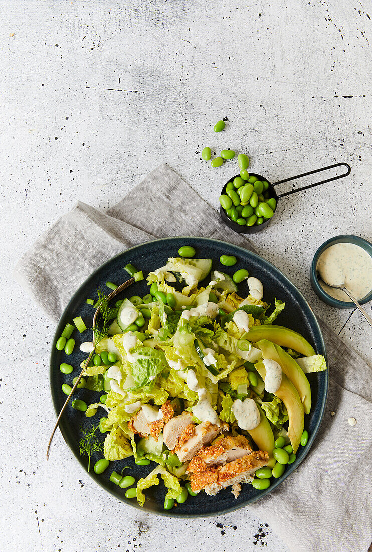
<instances>
[{"instance_id":1,"label":"creamy herb-flecked white dressing inside the small teal bowl","mask_svg":"<svg viewBox=\"0 0 372 552\"><path fill-rule=\"evenodd\" d=\"M355 243L335 243L320 256L316 270L330 284L345 284L356 299L363 299L372 289L372 257ZM322 280L320 285L328 295L350 302L342 289L331 288Z\"/></svg>"}]
</instances>

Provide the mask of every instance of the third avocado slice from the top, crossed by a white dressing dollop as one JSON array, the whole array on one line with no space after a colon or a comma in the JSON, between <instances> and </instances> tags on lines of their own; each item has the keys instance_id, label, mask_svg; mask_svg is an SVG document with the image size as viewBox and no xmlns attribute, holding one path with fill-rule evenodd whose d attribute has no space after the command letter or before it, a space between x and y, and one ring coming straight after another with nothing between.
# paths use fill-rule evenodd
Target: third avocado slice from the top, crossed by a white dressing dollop
<instances>
[{"instance_id":1,"label":"third avocado slice from the top, crossed by a white dressing dollop","mask_svg":"<svg viewBox=\"0 0 372 552\"><path fill-rule=\"evenodd\" d=\"M255 364L258 374L265 381L266 369L262 362ZM282 374L282 384L278 391L274 393L278 399L284 402L289 417L288 437L295 453L299 447L301 435L304 431L304 407L300 401L298 392L293 383Z\"/></svg>"}]
</instances>

